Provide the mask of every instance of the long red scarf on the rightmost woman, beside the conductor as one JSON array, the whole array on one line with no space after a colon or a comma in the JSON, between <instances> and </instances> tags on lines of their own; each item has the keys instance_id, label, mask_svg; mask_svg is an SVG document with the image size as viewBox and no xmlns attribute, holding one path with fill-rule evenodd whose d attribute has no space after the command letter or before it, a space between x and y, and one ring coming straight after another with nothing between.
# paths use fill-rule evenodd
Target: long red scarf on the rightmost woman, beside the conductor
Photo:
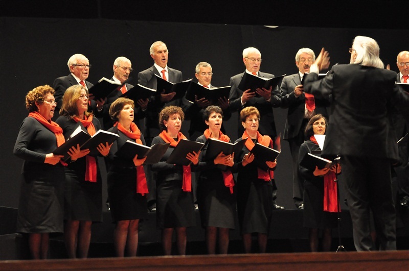
<instances>
[{"instance_id":1,"label":"long red scarf on the rightmost woman, beside the conductor","mask_svg":"<svg viewBox=\"0 0 409 271\"><path fill-rule=\"evenodd\" d=\"M310 140L318 145L314 136L311 136ZM336 175L331 170L324 175L324 211L326 212L341 211L340 207L338 206L338 196L336 193L337 183L334 182L335 179Z\"/></svg>"}]
</instances>

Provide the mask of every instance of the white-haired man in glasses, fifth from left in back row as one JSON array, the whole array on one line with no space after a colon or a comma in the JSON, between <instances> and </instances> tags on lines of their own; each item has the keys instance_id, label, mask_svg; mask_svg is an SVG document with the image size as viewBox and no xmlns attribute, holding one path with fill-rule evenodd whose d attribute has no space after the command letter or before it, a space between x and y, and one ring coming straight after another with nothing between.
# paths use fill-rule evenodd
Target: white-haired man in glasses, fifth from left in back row
<instances>
[{"instance_id":1,"label":"white-haired man in glasses, fifth from left in back row","mask_svg":"<svg viewBox=\"0 0 409 271\"><path fill-rule=\"evenodd\" d=\"M230 101L230 110L241 111L243 108L248 106L254 106L260 111L260 123L259 123L259 132L262 135L268 135L272 139L277 136L276 124L274 121L274 114L272 112L272 107L280 106L280 92L278 87L272 89L258 88L256 92L253 92L251 89L239 89L238 85L240 84L241 79L245 72L250 73L254 76L261 78L274 78L274 75L270 73L265 73L260 71L261 65L261 53L255 47L248 47L243 50L243 62L246 67L245 71L239 73L238 75L230 78L230 90L229 101ZM260 97L256 97L256 93ZM237 137L241 137L244 132L244 128L241 125L240 114L237 118ZM274 209L285 209L282 206L276 204L277 198L277 186L273 182L273 208Z\"/></svg>"}]
</instances>

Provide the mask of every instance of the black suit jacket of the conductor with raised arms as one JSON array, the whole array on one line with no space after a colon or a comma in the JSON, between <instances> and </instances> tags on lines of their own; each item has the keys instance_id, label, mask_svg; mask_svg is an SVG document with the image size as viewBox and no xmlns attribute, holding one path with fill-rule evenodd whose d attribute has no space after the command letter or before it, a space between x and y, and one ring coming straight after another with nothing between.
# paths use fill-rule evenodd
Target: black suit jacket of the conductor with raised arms
<instances>
[{"instance_id":1,"label":"black suit jacket of the conductor with raised arms","mask_svg":"<svg viewBox=\"0 0 409 271\"><path fill-rule=\"evenodd\" d=\"M305 92L332 94L323 156L398 159L390 109L395 106L409 120L409 95L395 81L396 72L358 64L336 65L322 80L310 73Z\"/></svg>"}]
</instances>

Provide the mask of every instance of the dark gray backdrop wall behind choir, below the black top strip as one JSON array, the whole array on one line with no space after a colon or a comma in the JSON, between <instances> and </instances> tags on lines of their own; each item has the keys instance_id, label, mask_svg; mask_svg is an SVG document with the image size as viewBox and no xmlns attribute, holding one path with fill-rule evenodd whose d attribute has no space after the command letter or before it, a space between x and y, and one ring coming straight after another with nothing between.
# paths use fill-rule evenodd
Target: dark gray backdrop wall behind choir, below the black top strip
<instances>
[{"instance_id":1,"label":"dark gray backdrop wall behind choir, below the black top strip","mask_svg":"<svg viewBox=\"0 0 409 271\"><path fill-rule=\"evenodd\" d=\"M88 78L92 83L102 77L112 77L113 61L125 56L132 62L131 77L136 83L138 72L153 64L149 56L150 45L162 40L168 46L169 66L181 70L184 79L194 78L196 64L207 61L213 66L212 84L225 86L229 85L230 77L244 71L241 53L247 46L255 46L261 51L261 71L290 75L297 72L294 56L301 47L310 47L318 53L325 46L332 64L348 63L352 39L356 35L370 36L378 41L384 63L391 63L392 69L397 71L396 55L407 50L409 44L409 35L402 35L407 31L390 29L271 29L109 19L2 17L0 20L0 205L9 207L18 205L22 161L13 156L13 146L19 125L28 114L25 95L38 85L52 85L55 78L68 75L66 63L73 54L84 54L93 65ZM284 109L275 109L278 131L283 132L286 114ZM237 137L236 118L237 114L234 114L227 126L232 139ZM188 127L189 122L184 122L183 131L186 132ZM291 159L285 141L282 141L275 176L279 188L277 203L293 209ZM343 190L341 193L343 199Z\"/></svg>"}]
</instances>

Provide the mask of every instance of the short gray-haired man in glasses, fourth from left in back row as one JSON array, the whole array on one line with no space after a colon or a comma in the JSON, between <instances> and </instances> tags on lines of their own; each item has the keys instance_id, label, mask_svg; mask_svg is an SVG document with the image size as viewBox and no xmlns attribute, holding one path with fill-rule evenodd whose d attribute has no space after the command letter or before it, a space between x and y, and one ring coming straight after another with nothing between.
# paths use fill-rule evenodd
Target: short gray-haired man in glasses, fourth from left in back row
<instances>
[{"instance_id":1,"label":"short gray-haired man in glasses, fourth from left in back row","mask_svg":"<svg viewBox=\"0 0 409 271\"><path fill-rule=\"evenodd\" d=\"M213 70L212 66L207 62L199 62L195 68L195 77L198 81L198 85L205 88L215 88L211 84ZM195 100L195 102L186 109L185 119L190 120L189 128L189 139L195 141L197 137L201 136L208 126L203 120L203 112L205 112L206 107L210 106L210 102L206 98L200 98ZM226 97L225 100L219 101L218 106L223 110L223 122L229 120L231 113L229 110L229 100ZM222 124L221 132L225 133L224 125Z\"/></svg>"}]
</instances>

